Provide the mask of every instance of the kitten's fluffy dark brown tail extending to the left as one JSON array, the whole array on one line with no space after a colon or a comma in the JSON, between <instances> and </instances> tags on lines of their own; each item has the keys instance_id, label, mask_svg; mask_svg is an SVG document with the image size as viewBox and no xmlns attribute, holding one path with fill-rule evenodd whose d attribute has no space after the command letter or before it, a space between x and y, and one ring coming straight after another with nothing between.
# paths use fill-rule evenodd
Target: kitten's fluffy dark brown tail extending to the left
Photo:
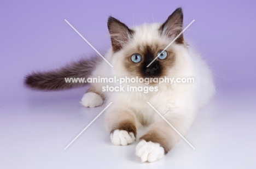
<instances>
[{"instance_id":1,"label":"kitten's fluffy dark brown tail extending to the left","mask_svg":"<svg viewBox=\"0 0 256 169\"><path fill-rule=\"evenodd\" d=\"M74 87L82 87L87 85L83 82L66 82L65 78L88 78L92 71L96 69L96 65L100 59L94 57L92 59L81 59L78 62L68 64L66 67L57 69L56 71L33 72L25 77L25 85L27 87L38 90L61 90Z\"/></svg>"}]
</instances>

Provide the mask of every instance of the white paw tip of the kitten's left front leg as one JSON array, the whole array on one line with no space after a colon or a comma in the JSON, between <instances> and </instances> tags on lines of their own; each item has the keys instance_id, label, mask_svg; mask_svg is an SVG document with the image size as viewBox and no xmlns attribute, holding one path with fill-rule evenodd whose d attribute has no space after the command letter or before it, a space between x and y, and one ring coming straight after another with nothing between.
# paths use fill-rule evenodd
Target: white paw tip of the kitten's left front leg
<instances>
[{"instance_id":1,"label":"white paw tip of the kitten's left front leg","mask_svg":"<svg viewBox=\"0 0 256 169\"><path fill-rule=\"evenodd\" d=\"M135 141L133 132L127 132L126 130L115 130L110 134L111 142L115 146L127 146Z\"/></svg>"}]
</instances>

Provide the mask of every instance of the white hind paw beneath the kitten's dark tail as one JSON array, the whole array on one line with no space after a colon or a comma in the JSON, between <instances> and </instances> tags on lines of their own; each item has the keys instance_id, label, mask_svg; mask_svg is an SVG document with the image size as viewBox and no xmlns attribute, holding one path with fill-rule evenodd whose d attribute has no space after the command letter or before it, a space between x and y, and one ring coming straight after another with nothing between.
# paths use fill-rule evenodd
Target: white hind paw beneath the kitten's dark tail
<instances>
[{"instance_id":1,"label":"white hind paw beneath the kitten's dark tail","mask_svg":"<svg viewBox=\"0 0 256 169\"><path fill-rule=\"evenodd\" d=\"M103 100L97 93L88 92L84 94L80 103L85 107L97 107L103 104Z\"/></svg>"}]
</instances>

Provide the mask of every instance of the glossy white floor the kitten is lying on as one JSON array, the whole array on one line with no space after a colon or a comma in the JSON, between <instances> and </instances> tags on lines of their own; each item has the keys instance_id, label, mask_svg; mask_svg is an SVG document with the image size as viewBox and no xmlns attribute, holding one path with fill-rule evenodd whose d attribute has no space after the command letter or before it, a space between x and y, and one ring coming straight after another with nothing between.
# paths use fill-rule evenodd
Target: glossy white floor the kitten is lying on
<instances>
[{"instance_id":1,"label":"glossy white floor the kitten is lying on","mask_svg":"<svg viewBox=\"0 0 256 169\"><path fill-rule=\"evenodd\" d=\"M142 163L135 145L113 146L104 113L66 150L102 107L79 100L0 105L0 168L256 168L256 96L216 96L197 116L187 140L164 159Z\"/></svg>"}]
</instances>

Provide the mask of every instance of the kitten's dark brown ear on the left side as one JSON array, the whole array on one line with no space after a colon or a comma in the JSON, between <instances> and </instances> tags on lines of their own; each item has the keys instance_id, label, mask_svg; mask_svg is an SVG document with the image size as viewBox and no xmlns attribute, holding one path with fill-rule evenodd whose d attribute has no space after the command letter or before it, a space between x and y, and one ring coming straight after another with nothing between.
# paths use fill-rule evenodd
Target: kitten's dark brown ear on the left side
<instances>
[{"instance_id":1,"label":"kitten's dark brown ear on the left side","mask_svg":"<svg viewBox=\"0 0 256 169\"><path fill-rule=\"evenodd\" d=\"M114 52L119 51L132 38L133 31L112 16L108 18L108 31Z\"/></svg>"}]
</instances>

